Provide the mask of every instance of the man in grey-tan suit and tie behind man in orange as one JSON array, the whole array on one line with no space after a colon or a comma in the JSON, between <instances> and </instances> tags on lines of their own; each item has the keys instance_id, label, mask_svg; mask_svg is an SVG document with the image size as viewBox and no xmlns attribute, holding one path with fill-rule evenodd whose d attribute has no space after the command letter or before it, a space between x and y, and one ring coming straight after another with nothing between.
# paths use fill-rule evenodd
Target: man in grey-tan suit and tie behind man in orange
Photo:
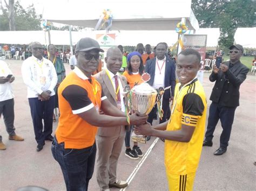
<instances>
[{"instance_id":1,"label":"man in grey-tan suit and tie behind man in orange","mask_svg":"<svg viewBox=\"0 0 256 191\"><path fill-rule=\"evenodd\" d=\"M122 66L122 56L118 48L108 49L105 58L107 68L96 74L95 78L110 103L125 111L123 88L127 82L124 76L118 74ZM97 182L101 190L109 190L111 187L124 188L128 185L126 181L117 180L117 161L122 151L124 137L124 126L98 128Z\"/></svg>"}]
</instances>

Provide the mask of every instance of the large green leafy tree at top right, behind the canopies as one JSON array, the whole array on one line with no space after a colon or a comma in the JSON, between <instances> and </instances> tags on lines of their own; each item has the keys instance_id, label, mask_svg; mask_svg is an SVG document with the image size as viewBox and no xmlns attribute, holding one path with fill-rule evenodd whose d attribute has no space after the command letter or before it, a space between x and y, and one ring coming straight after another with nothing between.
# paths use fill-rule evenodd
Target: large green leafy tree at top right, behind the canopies
<instances>
[{"instance_id":1,"label":"large green leafy tree at top right, behind the canopies","mask_svg":"<svg viewBox=\"0 0 256 191\"><path fill-rule=\"evenodd\" d=\"M219 27L219 44L229 47L238 27L255 26L256 2L252 0L192 0L192 9L200 27Z\"/></svg>"}]
</instances>

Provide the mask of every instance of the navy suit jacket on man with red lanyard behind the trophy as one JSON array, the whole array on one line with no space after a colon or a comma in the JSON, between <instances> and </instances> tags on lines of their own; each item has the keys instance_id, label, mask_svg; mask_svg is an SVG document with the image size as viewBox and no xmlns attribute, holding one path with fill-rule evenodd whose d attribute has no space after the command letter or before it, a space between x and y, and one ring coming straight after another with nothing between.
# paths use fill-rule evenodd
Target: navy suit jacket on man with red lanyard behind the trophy
<instances>
[{"instance_id":1,"label":"navy suit jacket on man with red lanyard behind the trophy","mask_svg":"<svg viewBox=\"0 0 256 191\"><path fill-rule=\"evenodd\" d=\"M165 90L164 97L165 99L169 99L172 96L174 96L174 89L176 86L176 76L175 76L175 63L173 60L169 59L168 56L166 57L165 61L165 78L164 78L164 88L171 86L170 89ZM154 73L156 72L156 58L147 60L146 66L145 66L145 72L149 73L151 76L151 79L149 82L150 86L153 86L154 83Z\"/></svg>"}]
</instances>

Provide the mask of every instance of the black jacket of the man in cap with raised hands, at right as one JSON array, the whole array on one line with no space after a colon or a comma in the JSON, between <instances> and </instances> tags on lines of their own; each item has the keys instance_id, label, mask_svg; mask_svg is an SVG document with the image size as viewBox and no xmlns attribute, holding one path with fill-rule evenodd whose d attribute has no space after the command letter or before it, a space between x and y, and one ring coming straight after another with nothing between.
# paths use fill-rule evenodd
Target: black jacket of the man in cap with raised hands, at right
<instances>
[{"instance_id":1,"label":"black jacket of the man in cap with raised hands, at right","mask_svg":"<svg viewBox=\"0 0 256 191\"><path fill-rule=\"evenodd\" d=\"M239 106L239 88L246 79L249 68L240 61L230 67L230 61L225 62L228 66L227 72L221 70L218 74L212 73L209 76L211 82L215 82L210 100L225 107Z\"/></svg>"}]
</instances>

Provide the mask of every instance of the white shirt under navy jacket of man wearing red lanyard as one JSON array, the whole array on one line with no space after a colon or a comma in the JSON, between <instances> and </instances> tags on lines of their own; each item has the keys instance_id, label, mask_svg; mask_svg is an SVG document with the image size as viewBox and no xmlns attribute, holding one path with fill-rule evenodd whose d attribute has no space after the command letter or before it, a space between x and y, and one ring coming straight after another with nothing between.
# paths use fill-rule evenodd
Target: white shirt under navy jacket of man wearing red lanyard
<instances>
[{"instance_id":1,"label":"white shirt under navy jacket of man wearing red lanyard","mask_svg":"<svg viewBox=\"0 0 256 191\"><path fill-rule=\"evenodd\" d=\"M156 70L154 72L154 83L153 88L158 89L160 87L164 88L164 77L165 77L165 57L163 60L158 60L156 58ZM162 67L163 66L163 67Z\"/></svg>"}]
</instances>

